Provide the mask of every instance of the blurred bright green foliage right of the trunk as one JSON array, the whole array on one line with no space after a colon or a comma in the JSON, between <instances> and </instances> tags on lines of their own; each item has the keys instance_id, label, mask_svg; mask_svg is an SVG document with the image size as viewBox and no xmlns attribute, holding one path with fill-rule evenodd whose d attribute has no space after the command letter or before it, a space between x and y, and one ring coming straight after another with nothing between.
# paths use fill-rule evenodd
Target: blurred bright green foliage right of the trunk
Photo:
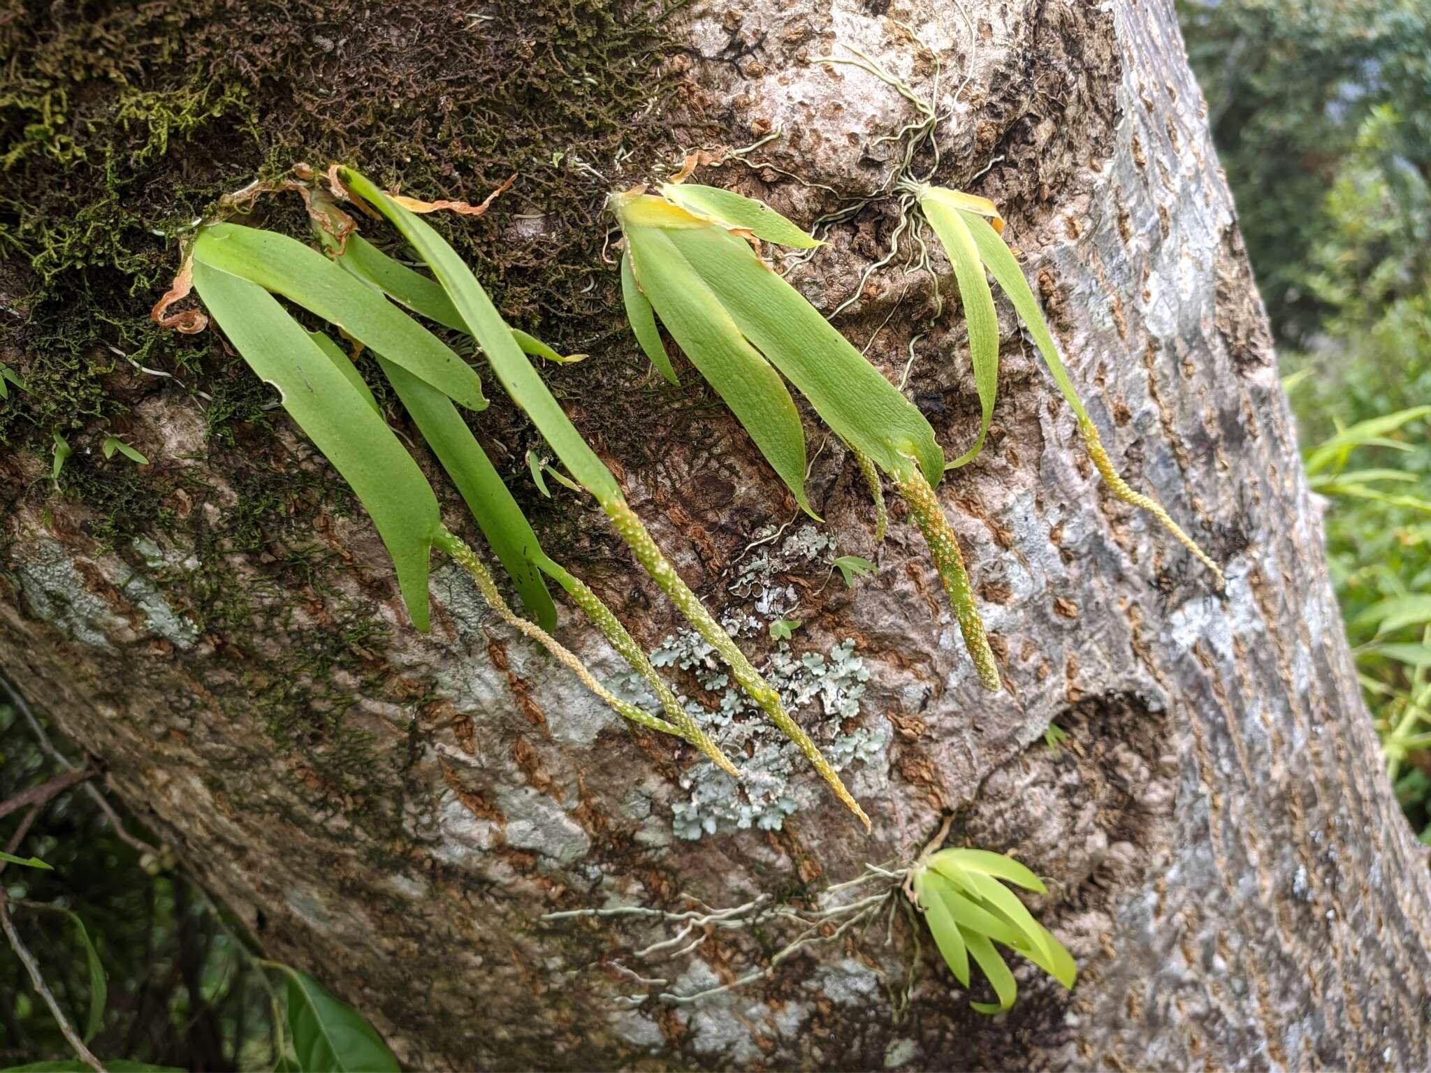
<instances>
[{"instance_id":1,"label":"blurred bright green foliage right of the trunk","mask_svg":"<svg viewBox=\"0 0 1431 1073\"><path fill-rule=\"evenodd\" d=\"M1361 684L1401 805L1431 841L1431 7L1179 11L1309 482L1328 496Z\"/></svg>"}]
</instances>

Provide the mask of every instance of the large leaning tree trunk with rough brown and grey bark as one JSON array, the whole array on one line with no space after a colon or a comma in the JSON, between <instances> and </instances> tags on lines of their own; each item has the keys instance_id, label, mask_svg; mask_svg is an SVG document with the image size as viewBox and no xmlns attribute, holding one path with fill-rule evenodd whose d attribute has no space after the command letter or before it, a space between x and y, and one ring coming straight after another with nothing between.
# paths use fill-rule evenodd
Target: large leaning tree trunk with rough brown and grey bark
<instances>
[{"instance_id":1,"label":"large leaning tree trunk with rough brown and grey bark","mask_svg":"<svg viewBox=\"0 0 1431 1073\"><path fill-rule=\"evenodd\" d=\"M260 140L326 109L346 126L292 144L352 153L388 180L404 177L405 160L428 169L434 153L468 162L432 170L428 187L408 177L418 196L477 200L501 177L471 163L481 157L471 147L501 126L499 92L468 96L464 77L488 86L478 77L497 72L528 90L534 72L552 80L527 99L529 113L508 113L517 133L492 143L507 152L547 130L541 109L560 104L541 149L551 159L519 160L514 193L488 219L444 226L477 236L491 255L484 278L518 322L567 313L541 328L592 358L548 369L548 381L684 577L738 617L741 645L806 698L797 718L846 750L874 833L754 724L717 728L754 773L740 790L691 748L633 733L451 565L435 571L432 632L414 632L369 522L303 436L268 426L272 412L256 406L255 419L222 423L222 405L259 398L233 359L205 336L182 352L197 365L140 362L176 378L116 368L99 320L113 310L90 308L76 375L110 362L96 381L107 402L83 411L103 421L69 433L67 495L52 491L40 452L63 426L44 423L44 378L31 378L36 398L10 403L40 409L29 449L6 464L0 671L103 764L270 956L328 981L422 1067L1425 1067L1425 858L1382 775L1327 579L1319 505L1172 4L697 3L618 44L611 27L625 23L600 6L560 17L541 4L494 7L495 19L436 0L415 10L416 24L362 9L338 26L306 9L279 17L218 4L165 31L182 30L182 50L193 50L255 20L252 40L276 41L223 60ZM30 30L24 47L49 47L43 26ZM123 40L96 33L89 47L93 69L54 77L110 77L100 60ZM698 179L764 196L803 225L874 197L904 146L879 139L917 116L867 72L810 62L851 47L933 99L937 182L1002 206L1115 462L1228 575L1219 595L1151 518L1109 495L1003 309L990 445L939 492L1005 694L980 688L909 519L896 509L889 539L874 544L853 458L810 418L824 524L796 516L693 372L665 391L637 363L612 260L598 259L604 189L693 144L768 137ZM283 66L295 54L321 89ZM653 54L658 70L637 66ZM491 67L448 77L422 66L449 56ZM567 77L592 56L645 73L598 73L601 90ZM418 86L411 97L402 79ZM594 100L611 79L631 96ZM389 93L411 112L384 112L396 107ZM76 114L112 106L74 97ZM368 114L406 116L411 143L362 127L365 100ZM581 119L588 106L621 112L614 123ZM196 176L202 205L255 175L262 156L236 120L195 123L127 166ZM622 144L640 152L617 156ZM102 169L94 155L79 165L96 183ZM522 186L548 180L568 200L542 202L547 216L534 219ZM896 225L893 203L874 199L788 278L826 313L859 295L836 323L893 381L909 362L906 391L953 456L972 441L977 398L947 265L936 259L946 302L933 326L932 280L906 263L907 237L861 279ZM574 249L588 259L564 263ZM172 245L165 256L172 268ZM116 300L132 312L155 298ZM44 353L7 361L43 372ZM505 403L475 428L507 448L525 489L529 429ZM99 439L114 429L153 465L102 461ZM670 672L698 694L710 674L670 605L588 504L554 491L550 505L522 492L548 551L647 647L667 638ZM126 514L133 502L155 509ZM469 531L446 502L449 524ZM846 588L831 579L837 554L876 559L879 574ZM788 657L768 638L776 618L803 622ZM617 671L568 609L558 635ZM727 688L700 695L716 707ZM1069 735L1060 751L1043 743L1050 724ZM1013 1011L980 1017L927 934L916 953L903 917L893 941L881 917L754 983L678 1003L663 996L756 971L794 933L778 920L713 929L663 960L638 951L675 926L541 920L612 906L681 913L693 898L809 906L864 863L907 861L946 814L952 844L1012 851L1052 877L1036 911L1079 961L1072 994L1023 966Z\"/></svg>"}]
</instances>

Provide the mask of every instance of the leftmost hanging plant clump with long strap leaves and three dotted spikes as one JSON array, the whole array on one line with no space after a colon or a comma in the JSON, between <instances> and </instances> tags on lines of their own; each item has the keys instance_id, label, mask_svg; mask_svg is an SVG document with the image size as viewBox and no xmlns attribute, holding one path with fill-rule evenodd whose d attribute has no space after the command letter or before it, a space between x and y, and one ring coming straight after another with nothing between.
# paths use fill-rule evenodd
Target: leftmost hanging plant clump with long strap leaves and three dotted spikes
<instances>
[{"instance_id":1,"label":"leftmost hanging plant clump with long strap leaves and three dotted spikes","mask_svg":"<svg viewBox=\"0 0 1431 1073\"><path fill-rule=\"evenodd\" d=\"M329 196L308 182L311 176L305 169L299 172L302 182L285 182L272 189L298 189L303 195L329 256L273 232L212 223L200 229L175 288L156 306L155 319L180 330L202 330L203 318L196 310L166 312L187 293L192 282L239 355L255 373L279 389L283 408L366 508L392 557L414 625L422 631L428 628L426 582L429 554L435 548L474 578L482 597L511 627L542 644L621 715L690 741L723 770L737 774L610 608L541 549L531 525L456 409L456 405L471 411L487 406L477 372L402 306L472 336L498 382L532 419L567 471L595 496L647 572L716 648L736 681L869 827L869 818L839 774L786 712L780 694L761 678L661 554L627 505L610 469L567 418L524 351L544 358L560 356L538 340L514 333L471 269L416 215L454 206L388 195L361 173L336 166L329 172ZM386 217L432 278L414 272L353 235L355 223L338 207L335 197ZM462 209L477 210L472 206ZM299 326L275 295L339 328L373 353L424 439L452 476L535 622L507 605L477 552L442 525L432 488L384 421L352 361L323 333L309 333ZM555 608L541 575L561 585L650 684L665 718L612 695L551 637L548 629L555 621Z\"/></svg>"}]
</instances>

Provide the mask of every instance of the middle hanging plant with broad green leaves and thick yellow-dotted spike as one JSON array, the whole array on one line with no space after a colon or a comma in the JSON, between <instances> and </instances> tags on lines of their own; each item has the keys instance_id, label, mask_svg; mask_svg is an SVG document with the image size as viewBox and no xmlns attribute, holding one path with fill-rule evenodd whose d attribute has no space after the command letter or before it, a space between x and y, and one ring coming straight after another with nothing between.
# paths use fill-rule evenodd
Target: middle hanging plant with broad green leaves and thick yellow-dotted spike
<instances>
[{"instance_id":1,"label":"middle hanging plant with broad green leaves and thick yellow-dotted spike","mask_svg":"<svg viewBox=\"0 0 1431 1073\"><path fill-rule=\"evenodd\" d=\"M664 183L611 199L625 250L627 318L661 373L675 372L655 315L750 432L766 459L814 514L804 491L804 431L788 379L853 451L876 496L876 468L889 474L929 542L979 680L999 690L999 667L975 607L969 574L933 484L944 474L934 431L879 369L776 275L751 240L809 249L819 243L773 209L730 190Z\"/></svg>"}]
</instances>

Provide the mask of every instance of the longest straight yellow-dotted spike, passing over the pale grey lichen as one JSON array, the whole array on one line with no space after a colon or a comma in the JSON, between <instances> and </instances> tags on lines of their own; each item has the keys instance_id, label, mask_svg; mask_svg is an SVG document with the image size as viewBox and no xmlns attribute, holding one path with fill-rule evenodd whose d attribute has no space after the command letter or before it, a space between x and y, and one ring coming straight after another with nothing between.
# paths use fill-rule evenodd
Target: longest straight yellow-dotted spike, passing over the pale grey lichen
<instances>
[{"instance_id":1,"label":"longest straight yellow-dotted spike, passing over the pale grey lichen","mask_svg":"<svg viewBox=\"0 0 1431 1073\"><path fill-rule=\"evenodd\" d=\"M927 486L927 485L926 485ZM760 677L760 672L751 667L750 660L746 654L736 647L736 642L730 638L720 622L705 609L705 605L697 599L695 594L691 592L690 587L681 577L675 572L675 568L667 562L661 549L655 547L655 541L651 539L651 534L645 531L641 519L635 516L635 512L625 504L625 501L617 499L611 502L604 502L602 508L607 516L611 518L611 524L620 534L621 539L627 542L627 547L635 554L637 561L645 568L645 572L651 575L661 591L671 598L671 602L680 609L685 619L695 627L705 642L711 645L717 652L720 652L721 660L730 667L731 675L740 684L740 687L756 701L770 717L770 721L784 731L786 737L790 738L806 754L806 758L814 765L814 770L820 773L830 788L834 790L836 797L839 797L854 813L860 823L864 824L864 830L870 830L870 817L864 814L850 791L844 788L844 783L840 781L840 774L834 770L824 754L820 753L820 747L810 740L810 735L804 733L798 722L790 718L784 705L780 702L780 694L776 691L770 682Z\"/></svg>"}]
</instances>

